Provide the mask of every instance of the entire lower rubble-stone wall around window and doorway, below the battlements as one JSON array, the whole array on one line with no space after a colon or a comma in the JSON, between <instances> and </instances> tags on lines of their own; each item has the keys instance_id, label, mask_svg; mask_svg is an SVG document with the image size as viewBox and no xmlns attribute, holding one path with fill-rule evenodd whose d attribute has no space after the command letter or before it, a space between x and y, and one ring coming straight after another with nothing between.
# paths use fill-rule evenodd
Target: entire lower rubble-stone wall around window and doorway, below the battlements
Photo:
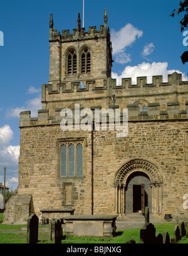
<instances>
[{"instance_id":1,"label":"entire lower rubble-stone wall around window and doorway, below the battlements","mask_svg":"<svg viewBox=\"0 0 188 256\"><path fill-rule=\"evenodd\" d=\"M115 173L130 159L148 159L159 166L162 184L162 215L185 215L182 196L187 193L185 132L187 120L128 122L128 136L116 131L93 131L93 214L115 213ZM83 178L61 178L58 140L84 138ZM34 212L61 208L65 188L71 193L75 214L91 214L91 132L63 132L60 125L21 128L19 195L33 195ZM70 200L70 198L69 198Z\"/></svg>"}]
</instances>

